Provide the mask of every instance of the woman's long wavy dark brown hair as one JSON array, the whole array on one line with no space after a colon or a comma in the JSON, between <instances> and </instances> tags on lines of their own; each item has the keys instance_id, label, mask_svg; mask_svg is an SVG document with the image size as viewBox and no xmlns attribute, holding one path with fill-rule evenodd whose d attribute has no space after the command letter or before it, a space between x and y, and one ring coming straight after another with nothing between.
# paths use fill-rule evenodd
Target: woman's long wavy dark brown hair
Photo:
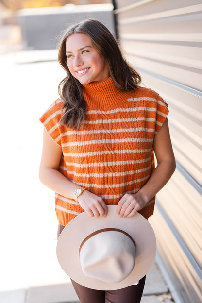
<instances>
[{"instance_id":1,"label":"woman's long wavy dark brown hair","mask_svg":"<svg viewBox=\"0 0 202 303\"><path fill-rule=\"evenodd\" d=\"M94 48L104 57L114 84L123 91L131 91L139 86L141 76L126 61L118 42L110 31L98 20L87 19L68 28L59 44L58 61L67 76L60 82L58 92L65 101L62 123L78 130L84 124L86 103L82 84L72 76L67 66L66 40L74 33L87 34Z\"/></svg>"}]
</instances>

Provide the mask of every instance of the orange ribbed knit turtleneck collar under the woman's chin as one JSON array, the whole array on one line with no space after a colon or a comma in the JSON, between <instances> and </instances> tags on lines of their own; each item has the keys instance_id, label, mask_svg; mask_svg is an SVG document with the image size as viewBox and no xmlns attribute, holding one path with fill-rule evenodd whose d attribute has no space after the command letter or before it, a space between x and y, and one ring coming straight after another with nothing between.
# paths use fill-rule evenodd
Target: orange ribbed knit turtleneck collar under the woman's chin
<instances>
[{"instance_id":1,"label":"orange ribbed knit turtleneck collar under the woman's chin","mask_svg":"<svg viewBox=\"0 0 202 303\"><path fill-rule=\"evenodd\" d=\"M84 98L88 108L108 110L129 98L129 92L117 88L109 77L103 81L83 85Z\"/></svg>"}]
</instances>

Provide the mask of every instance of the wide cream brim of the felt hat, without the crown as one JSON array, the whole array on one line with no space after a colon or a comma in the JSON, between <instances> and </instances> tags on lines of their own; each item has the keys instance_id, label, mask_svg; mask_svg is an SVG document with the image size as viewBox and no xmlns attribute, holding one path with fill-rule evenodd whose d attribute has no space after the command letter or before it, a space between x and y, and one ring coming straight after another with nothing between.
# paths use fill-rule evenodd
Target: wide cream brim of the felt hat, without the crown
<instances>
[{"instance_id":1,"label":"wide cream brim of the felt hat, without the crown","mask_svg":"<svg viewBox=\"0 0 202 303\"><path fill-rule=\"evenodd\" d=\"M57 258L67 275L88 288L115 290L133 285L151 269L156 256L156 238L150 223L139 213L131 218L116 214L117 205L108 205L105 218L89 217L86 212L72 219L63 229L57 242ZM118 283L107 283L84 275L80 266L79 248L89 234L102 228L118 228L135 241L135 267L130 275Z\"/></svg>"}]
</instances>

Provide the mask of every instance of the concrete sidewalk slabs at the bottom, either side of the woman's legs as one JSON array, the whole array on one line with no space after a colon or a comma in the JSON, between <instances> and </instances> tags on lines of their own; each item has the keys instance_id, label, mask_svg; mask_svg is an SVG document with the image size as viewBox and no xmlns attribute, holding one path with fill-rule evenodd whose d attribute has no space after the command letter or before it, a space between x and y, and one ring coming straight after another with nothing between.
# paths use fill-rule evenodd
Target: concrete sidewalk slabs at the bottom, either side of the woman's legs
<instances>
[{"instance_id":1,"label":"concrete sidewalk slabs at the bottom, either side of the woman's legs","mask_svg":"<svg viewBox=\"0 0 202 303\"><path fill-rule=\"evenodd\" d=\"M63 284L30 287L15 291L0 292L1 303L79 303L70 282ZM168 286L154 263L147 274L141 303L173 303ZM126 302L127 303L127 302Z\"/></svg>"}]
</instances>

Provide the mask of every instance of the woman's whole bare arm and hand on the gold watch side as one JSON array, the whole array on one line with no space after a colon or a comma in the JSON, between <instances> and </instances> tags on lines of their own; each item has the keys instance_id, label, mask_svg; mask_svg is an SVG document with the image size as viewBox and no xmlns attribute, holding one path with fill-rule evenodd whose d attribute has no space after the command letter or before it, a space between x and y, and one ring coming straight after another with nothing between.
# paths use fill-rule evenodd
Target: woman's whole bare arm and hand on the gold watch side
<instances>
[{"instance_id":1,"label":"woman's whole bare arm and hand on the gold watch side","mask_svg":"<svg viewBox=\"0 0 202 303\"><path fill-rule=\"evenodd\" d=\"M68 180L60 171L58 171L61 156L62 148L52 140L44 129L39 179L51 190L64 197L74 199L74 192L79 186ZM101 197L88 190L84 190L82 195L78 197L78 202L90 217L105 217L107 215L105 202Z\"/></svg>"}]
</instances>

